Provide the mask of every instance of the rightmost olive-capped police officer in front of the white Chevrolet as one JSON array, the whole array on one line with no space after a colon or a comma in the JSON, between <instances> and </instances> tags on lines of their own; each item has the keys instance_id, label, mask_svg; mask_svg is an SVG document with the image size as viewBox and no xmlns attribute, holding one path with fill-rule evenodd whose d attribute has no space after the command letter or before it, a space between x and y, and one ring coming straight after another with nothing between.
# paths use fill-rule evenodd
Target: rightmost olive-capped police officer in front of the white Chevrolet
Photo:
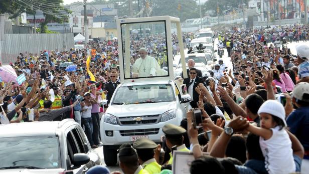
<instances>
[{"instance_id":1,"label":"rightmost olive-capped police officer in front of the white Chevrolet","mask_svg":"<svg viewBox=\"0 0 309 174\"><path fill-rule=\"evenodd\" d=\"M165 133L166 144L168 148L172 151L170 153L171 158L168 164L173 163L173 150L190 152L190 150L184 144L183 133L186 132L186 129L174 124L166 124L163 126L162 131Z\"/></svg>"}]
</instances>

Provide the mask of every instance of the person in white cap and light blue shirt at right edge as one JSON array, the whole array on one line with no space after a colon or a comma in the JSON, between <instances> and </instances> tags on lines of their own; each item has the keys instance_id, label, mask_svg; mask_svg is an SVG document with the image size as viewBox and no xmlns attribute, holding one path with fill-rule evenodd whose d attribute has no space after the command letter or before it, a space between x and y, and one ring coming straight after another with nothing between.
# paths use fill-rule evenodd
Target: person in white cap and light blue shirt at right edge
<instances>
[{"instance_id":1,"label":"person in white cap and light blue shirt at right edge","mask_svg":"<svg viewBox=\"0 0 309 174\"><path fill-rule=\"evenodd\" d=\"M298 61L298 78L299 82L309 82L309 46L308 45L298 45L296 46L297 61Z\"/></svg>"}]
</instances>

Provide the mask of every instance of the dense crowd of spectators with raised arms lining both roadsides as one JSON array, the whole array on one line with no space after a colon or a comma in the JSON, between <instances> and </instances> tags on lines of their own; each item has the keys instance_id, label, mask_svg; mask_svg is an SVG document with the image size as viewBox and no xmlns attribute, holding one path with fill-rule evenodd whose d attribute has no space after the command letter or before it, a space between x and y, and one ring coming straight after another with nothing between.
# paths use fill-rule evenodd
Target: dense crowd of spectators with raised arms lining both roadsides
<instances>
[{"instance_id":1,"label":"dense crowd of spectators with raised arms lining both roadsides","mask_svg":"<svg viewBox=\"0 0 309 174\"><path fill-rule=\"evenodd\" d=\"M121 145L122 172L172 173L177 160L173 151L179 150L193 152L192 174L309 173L309 46L298 44L293 55L270 38L291 42L297 35L298 40L307 40L307 31L308 26L298 25L221 31L219 39L226 45L232 69L220 59L214 70L201 77L193 61L189 77L177 79L186 86L183 92L192 96L187 118L181 125L163 127L162 145L144 138ZM189 43L193 36L185 34L184 41ZM175 36L173 41L178 54ZM166 49L160 37L132 43L132 64L141 47L156 58ZM100 115L120 82L119 57L116 40L89 45L88 50L20 54L10 66L17 76L25 74L26 80L17 84L0 79L1 124L73 118L84 127L93 148L101 145ZM89 66L87 55L91 55ZM76 71L65 70L68 62L77 65ZM196 110L202 116L200 123ZM95 166L88 173L110 171Z\"/></svg>"}]
</instances>

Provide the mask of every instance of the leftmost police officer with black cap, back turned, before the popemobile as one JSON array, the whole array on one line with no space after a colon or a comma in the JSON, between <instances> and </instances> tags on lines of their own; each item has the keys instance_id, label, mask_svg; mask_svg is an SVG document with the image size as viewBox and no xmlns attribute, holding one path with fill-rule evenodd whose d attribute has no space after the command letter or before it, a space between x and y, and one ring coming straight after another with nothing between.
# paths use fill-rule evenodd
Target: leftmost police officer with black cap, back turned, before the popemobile
<instances>
[{"instance_id":1,"label":"leftmost police officer with black cap, back turned, before the popemobile","mask_svg":"<svg viewBox=\"0 0 309 174\"><path fill-rule=\"evenodd\" d=\"M137 153L134 148L126 143L119 147L119 167L124 174L149 174L138 163Z\"/></svg>"}]
</instances>

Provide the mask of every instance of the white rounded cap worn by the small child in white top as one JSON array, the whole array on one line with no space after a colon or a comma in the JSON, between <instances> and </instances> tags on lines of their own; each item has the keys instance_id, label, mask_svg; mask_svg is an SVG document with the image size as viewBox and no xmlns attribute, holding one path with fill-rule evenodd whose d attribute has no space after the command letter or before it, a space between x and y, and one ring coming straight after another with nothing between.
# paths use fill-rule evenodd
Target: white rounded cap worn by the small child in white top
<instances>
[{"instance_id":1,"label":"white rounded cap worn by the small child in white top","mask_svg":"<svg viewBox=\"0 0 309 174\"><path fill-rule=\"evenodd\" d=\"M259 110L257 111L258 114L260 113L267 113L267 114L271 114L273 116L276 116L278 118L280 118L284 125L286 126L286 122L285 122L285 110L284 107L281 103L279 103L276 100L267 100L265 101L261 107L259 108Z\"/></svg>"}]
</instances>

